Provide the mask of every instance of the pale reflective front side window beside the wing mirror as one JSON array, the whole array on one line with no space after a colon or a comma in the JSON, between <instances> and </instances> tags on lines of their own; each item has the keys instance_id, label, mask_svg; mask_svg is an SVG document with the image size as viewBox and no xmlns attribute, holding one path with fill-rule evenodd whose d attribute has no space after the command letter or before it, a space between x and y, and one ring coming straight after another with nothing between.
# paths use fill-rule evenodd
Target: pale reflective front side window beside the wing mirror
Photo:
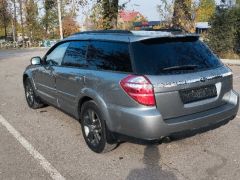
<instances>
[{"instance_id":1,"label":"pale reflective front side window beside the wing mirror","mask_svg":"<svg viewBox=\"0 0 240 180\"><path fill-rule=\"evenodd\" d=\"M47 55L46 63L50 65L61 65L65 51L69 45L69 42L60 44L50 54Z\"/></svg>"}]
</instances>

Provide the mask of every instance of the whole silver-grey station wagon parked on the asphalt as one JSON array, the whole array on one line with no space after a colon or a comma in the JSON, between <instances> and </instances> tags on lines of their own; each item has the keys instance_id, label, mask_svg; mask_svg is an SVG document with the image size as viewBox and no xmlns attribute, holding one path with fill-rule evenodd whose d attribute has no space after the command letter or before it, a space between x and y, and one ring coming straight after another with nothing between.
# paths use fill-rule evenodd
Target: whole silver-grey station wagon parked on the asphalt
<instances>
[{"instance_id":1,"label":"whole silver-grey station wagon parked on the asphalt","mask_svg":"<svg viewBox=\"0 0 240 180\"><path fill-rule=\"evenodd\" d=\"M235 117L232 71L194 34L93 31L33 57L23 74L26 100L76 119L91 150L120 135L156 140Z\"/></svg>"}]
</instances>

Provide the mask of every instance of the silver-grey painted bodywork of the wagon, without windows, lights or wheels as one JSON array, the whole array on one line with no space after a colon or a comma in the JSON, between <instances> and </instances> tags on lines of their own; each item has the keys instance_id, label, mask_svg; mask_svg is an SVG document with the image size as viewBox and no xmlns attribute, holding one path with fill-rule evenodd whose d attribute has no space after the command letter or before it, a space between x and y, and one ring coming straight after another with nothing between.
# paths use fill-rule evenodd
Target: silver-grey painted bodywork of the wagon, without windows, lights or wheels
<instances>
[{"instance_id":1,"label":"silver-grey painted bodywork of the wagon, without windows, lights or wheels","mask_svg":"<svg viewBox=\"0 0 240 180\"><path fill-rule=\"evenodd\" d=\"M63 42L87 39L135 42L156 37L159 38L159 34L80 34ZM171 37L173 35L169 36ZM147 76L154 86L156 107L140 105L123 91L119 82L127 76L125 73L31 65L24 74L31 78L38 96L77 119L79 102L82 98L89 97L103 112L104 120L111 131L142 139L158 139L174 132L232 118L237 114L239 106L238 94L232 89L232 73L225 66L188 74ZM189 104L182 103L179 90L208 84L216 85L217 97Z\"/></svg>"}]
</instances>

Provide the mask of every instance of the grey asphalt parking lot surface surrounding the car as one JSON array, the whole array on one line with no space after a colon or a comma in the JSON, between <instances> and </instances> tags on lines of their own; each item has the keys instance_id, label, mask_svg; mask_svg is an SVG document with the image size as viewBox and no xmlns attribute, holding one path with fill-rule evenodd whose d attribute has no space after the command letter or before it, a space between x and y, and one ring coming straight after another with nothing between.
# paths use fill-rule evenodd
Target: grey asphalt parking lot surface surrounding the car
<instances>
[{"instance_id":1,"label":"grey asphalt parking lot surface surrounding the car","mask_svg":"<svg viewBox=\"0 0 240 180\"><path fill-rule=\"evenodd\" d=\"M21 134L14 137L0 123L1 180L53 178L21 138L65 179L239 179L240 114L224 126L181 140L125 142L110 153L93 153L77 120L51 106L32 110L26 104L22 73L31 56L45 51L0 50L0 116ZM240 66L231 68L240 93Z\"/></svg>"}]
</instances>

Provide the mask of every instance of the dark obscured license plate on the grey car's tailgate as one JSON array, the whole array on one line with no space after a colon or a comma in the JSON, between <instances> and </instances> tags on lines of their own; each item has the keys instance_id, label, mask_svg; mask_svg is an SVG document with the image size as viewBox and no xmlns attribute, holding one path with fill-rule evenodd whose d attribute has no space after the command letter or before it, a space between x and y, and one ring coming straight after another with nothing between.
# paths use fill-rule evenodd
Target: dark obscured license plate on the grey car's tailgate
<instances>
[{"instance_id":1,"label":"dark obscured license plate on the grey car's tailgate","mask_svg":"<svg viewBox=\"0 0 240 180\"><path fill-rule=\"evenodd\" d=\"M180 91L180 97L184 104L200 101L217 96L215 85L202 86L199 88L186 89Z\"/></svg>"}]
</instances>

